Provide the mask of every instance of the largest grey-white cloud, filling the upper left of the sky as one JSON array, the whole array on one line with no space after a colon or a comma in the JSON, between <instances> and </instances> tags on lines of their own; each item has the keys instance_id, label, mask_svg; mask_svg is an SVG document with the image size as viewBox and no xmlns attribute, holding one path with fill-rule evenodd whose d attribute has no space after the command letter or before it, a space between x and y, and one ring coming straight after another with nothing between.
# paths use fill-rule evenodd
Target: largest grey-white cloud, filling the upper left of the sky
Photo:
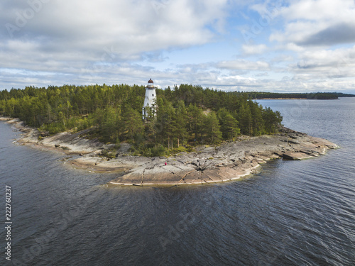
<instances>
[{"instance_id":1,"label":"largest grey-white cloud, filling the upper left of the sky","mask_svg":"<svg viewBox=\"0 0 355 266\"><path fill-rule=\"evenodd\" d=\"M51 55L61 54L63 50L84 51L89 59L98 60L102 50L111 47L119 59L125 55L207 43L214 38L209 28L218 30L223 24L226 0L51 0L41 5L33 18L26 20L26 10L33 10L31 6L12 3L0 22L20 26L11 33L23 45L33 40L42 52ZM16 23L19 17L25 17L23 26ZM10 38L6 28L0 34L4 40Z\"/></svg>"}]
</instances>

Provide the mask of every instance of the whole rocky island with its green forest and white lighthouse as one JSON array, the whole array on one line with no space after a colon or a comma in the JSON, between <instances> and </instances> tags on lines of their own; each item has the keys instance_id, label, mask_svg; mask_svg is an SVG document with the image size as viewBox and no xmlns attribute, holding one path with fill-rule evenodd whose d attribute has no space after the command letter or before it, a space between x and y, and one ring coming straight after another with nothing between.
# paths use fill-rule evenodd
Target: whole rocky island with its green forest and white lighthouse
<instances>
[{"instance_id":1,"label":"whole rocky island with its green forest and white lighthouse","mask_svg":"<svg viewBox=\"0 0 355 266\"><path fill-rule=\"evenodd\" d=\"M301 160L337 145L282 125L244 92L191 84L63 85L0 92L16 140L65 153L65 163L116 172L110 185L207 184L240 179L268 160Z\"/></svg>"}]
</instances>

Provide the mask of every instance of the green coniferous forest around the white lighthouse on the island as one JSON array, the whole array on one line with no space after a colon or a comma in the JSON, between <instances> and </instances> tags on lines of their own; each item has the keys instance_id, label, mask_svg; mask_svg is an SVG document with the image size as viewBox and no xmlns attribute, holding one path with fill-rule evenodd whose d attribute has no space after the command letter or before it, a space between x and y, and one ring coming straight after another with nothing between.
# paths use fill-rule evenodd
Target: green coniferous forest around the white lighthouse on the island
<instances>
[{"instance_id":1,"label":"green coniferous forest around the white lighthouse on the island","mask_svg":"<svg viewBox=\"0 0 355 266\"><path fill-rule=\"evenodd\" d=\"M277 132L278 111L264 109L248 94L200 86L156 89L158 114L142 119L145 87L89 85L26 87L0 92L0 115L20 118L42 135L92 130L88 138L129 142L135 154L159 156L238 135Z\"/></svg>"}]
</instances>

